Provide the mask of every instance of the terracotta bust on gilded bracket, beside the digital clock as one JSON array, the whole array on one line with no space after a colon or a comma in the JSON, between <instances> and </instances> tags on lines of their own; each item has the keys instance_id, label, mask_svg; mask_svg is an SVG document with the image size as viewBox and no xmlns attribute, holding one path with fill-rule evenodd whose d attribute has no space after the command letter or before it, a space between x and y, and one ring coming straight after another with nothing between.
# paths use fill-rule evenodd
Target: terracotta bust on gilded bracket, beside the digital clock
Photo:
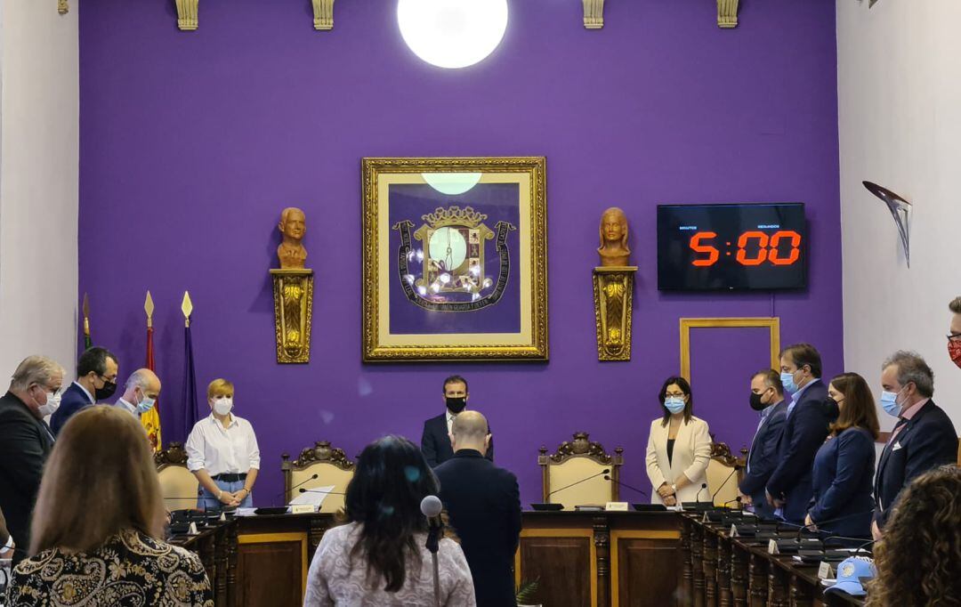
<instances>
[{"instance_id":1,"label":"terracotta bust on gilded bracket, beside the digital clock","mask_svg":"<svg viewBox=\"0 0 961 607\"><path fill-rule=\"evenodd\" d=\"M630 318L637 266L628 266L628 218L617 207L601 215L601 266L594 268L598 360L630 360Z\"/></svg>"}]
</instances>

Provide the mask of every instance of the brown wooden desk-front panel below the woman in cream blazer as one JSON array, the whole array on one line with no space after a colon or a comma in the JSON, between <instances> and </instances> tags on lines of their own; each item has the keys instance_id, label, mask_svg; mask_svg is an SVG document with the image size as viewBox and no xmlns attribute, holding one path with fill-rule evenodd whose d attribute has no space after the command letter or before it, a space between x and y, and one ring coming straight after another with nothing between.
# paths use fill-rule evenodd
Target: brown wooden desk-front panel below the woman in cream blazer
<instances>
[{"instance_id":1,"label":"brown wooden desk-front panel below the woman in cream blazer","mask_svg":"<svg viewBox=\"0 0 961 607\"><path fill-rule=\"evenodd\" d=\"M611 532L612 607L678 604L678 534L657 535L643 531Z\"/></svg>"}]
</instances>

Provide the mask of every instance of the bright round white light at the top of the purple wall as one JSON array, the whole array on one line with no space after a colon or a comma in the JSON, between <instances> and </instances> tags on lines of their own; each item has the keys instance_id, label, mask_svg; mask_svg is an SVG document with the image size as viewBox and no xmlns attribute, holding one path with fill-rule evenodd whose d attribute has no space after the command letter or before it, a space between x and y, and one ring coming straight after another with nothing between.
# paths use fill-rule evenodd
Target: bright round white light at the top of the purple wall
<instances>
[{"instance_id":1,"label":"bright round white light at the top of the purple wall","mask_svg":"<svg viewBox=\"0 0 961 607\"><path fill-rule=\"evenodd\" d=\"M398 0L397 22L417 57L438 67L467 67L504 38L507 0Z\"/></svg>"}]
</instances>

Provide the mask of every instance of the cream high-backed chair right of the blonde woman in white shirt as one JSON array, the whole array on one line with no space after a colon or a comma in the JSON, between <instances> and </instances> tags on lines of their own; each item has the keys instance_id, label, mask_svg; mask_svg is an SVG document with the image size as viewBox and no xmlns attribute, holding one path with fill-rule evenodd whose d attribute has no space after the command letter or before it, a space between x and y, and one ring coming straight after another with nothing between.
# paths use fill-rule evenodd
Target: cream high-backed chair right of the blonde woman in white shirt
<instances>
[{"instance_id":1,"label":"cream high-backed chair right of the blonde woman in white shirt","mask_svg":"<svg viewBox=\"0 0 961 607\"><path fill-rule=\"evenodd\" d=\"M347 485L354 478L354 462L347 459L343 449L332 447L329 441L318 441L313 446L303 449L300 456L293 462L286 453L281 458L283 459L281 463L283 493L288 503L301 494L301 489L333 485L334 492L345 493ZM317 478L310 479L314 474L317 474ZM324 498L321 511L337 512L343 507L344 496L331 493Z\"/></svg>"}]
</instances>

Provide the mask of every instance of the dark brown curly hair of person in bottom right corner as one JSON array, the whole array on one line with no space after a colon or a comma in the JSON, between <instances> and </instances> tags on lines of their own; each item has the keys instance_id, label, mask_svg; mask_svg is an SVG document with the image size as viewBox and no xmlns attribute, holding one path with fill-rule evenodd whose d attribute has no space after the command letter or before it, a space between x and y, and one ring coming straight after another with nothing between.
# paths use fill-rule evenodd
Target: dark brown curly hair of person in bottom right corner
<instances>
[{"instance_id":1,"label":"dark brown curly hair of person in bottom right corner","mask_svg":"<svg viewBox=\"0 0 961 607\"><path fill-rule=\"evenodd\" d=\"M899 496L875 544L871 607L961 605L961 468L925 472Z\"/></svg>"}]
</instances>

